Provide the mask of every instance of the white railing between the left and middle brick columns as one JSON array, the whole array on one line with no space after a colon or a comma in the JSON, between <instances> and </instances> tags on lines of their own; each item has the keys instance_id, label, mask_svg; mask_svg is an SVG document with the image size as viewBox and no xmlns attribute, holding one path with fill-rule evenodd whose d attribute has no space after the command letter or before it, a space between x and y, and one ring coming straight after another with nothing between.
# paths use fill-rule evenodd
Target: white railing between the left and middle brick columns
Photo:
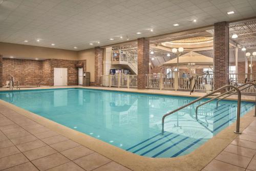
<instances>
[{"instance_id":1,"label":"white railing between the left and middle brick columns","mask_svg":"<svg viewBox=\"0 0 256 171\"><path fill-rule=\"evenodd\" d=\"M137 75L129 74L115 74L115 75L102 75L103 87L126 87L137 88Z\"/></svg>"}]
</instances>

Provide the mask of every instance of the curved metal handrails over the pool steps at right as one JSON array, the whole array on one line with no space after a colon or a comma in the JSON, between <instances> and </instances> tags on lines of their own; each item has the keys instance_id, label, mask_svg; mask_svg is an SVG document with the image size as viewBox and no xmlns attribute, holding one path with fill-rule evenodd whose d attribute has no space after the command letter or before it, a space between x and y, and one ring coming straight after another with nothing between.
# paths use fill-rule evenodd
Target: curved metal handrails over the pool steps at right
<instances>
[{"instance_id":1,"label":"curved metal handrails over the pool steps at right","mask_svg":"<svg viewBox=\"0 0 256 171\"><path fill-rule=\"evenodd\" d=\"M240 88L246 86L247 84L250 84L250 86L248 86L248 87L243 88L243 89L240 90ZM196 103L196 102L198 102L198 101L200 101L200 100L202 100L202 99L204 99L204 98L206 98L206 97L209 97L209 96L211 96L211 95L214 95L214 94L216 94L216 93L218 93L218 92L220 92L221 90L224 90L224 89L226 89L226 88L231 88L232 90L229 90L229 91L227 91L227 92L225 92L225 93L221 93L220 95L218 95L218 96L216 96L216 97L214 97L214 98L211 98L210 100L207 100L207 101L205 101L205 102L203 102L202 104L199 104L199 105L197 106L197 108L196 108L196 119L197 119L197 110L198 110L198 108L199 108L201 105L204 105L204 104L206 104L206 103L208 103L208 102L210 102L210 101L212 101L212 100L214 100L214 99L220 98L220 97L222 97L222 96L224 96L224 95L226 95L226 94L231 93L231 92L234 91L233 93L228 94L227 96L222 97L222 98L219 99L219 100L222 100L222 99L224 99L224 98L227 98L227 97L229 97L229 96L231 96L231 95L233 95L233 94L236 94L236 93L238 94L237 127L236 127L236 131L234 131L234 133L236 133L236 134L241 134L240 131L239 131L239 130L240 130L240 111L241 111L241 91L244 90L244 89L247 89L247 88L249 88L249 87L251 87L251 86L256 87L256 84L255 84L254 82L247 82L247 83L243 84L243 85L240 86L240 87L235 87L235 86L233 86L233 85L229 85L229 84L228 84L228 85L223 86L223 87L221 87L221 88L219 88L219 89L217 89L217 90L215 90L215 91L212 91L211 93L206 94L206 95L204 95L204 96L202 96L202 97L200 97L200 98L198 98L198 99L196 99L196 100L193 100L193 101L191 101L191 102L189 102L189 103L187 103L187 104L181 106L180 108L178 108L178 109L176 109L176 110L174 110L174 111L172 111L172 112L169 112L169 113L165 114L165 115L162 117L162 135L163 135L163 133L164 133L164 119L165 119L167 116L172 115L172 114L174 114L175 112L180 111L181 109L184 109L184 108L186 108L187 106L189 106L189 105L191 105L191 104L194 104L194 103ZM219 100L217 101L217 106L218 106ZM256 96L255 96L255 102L256 102ZM256 107L256 105L255 105L255 107ZM254 116L256 117L256 109L255 109Z\"/></svg>"}]
</instances>

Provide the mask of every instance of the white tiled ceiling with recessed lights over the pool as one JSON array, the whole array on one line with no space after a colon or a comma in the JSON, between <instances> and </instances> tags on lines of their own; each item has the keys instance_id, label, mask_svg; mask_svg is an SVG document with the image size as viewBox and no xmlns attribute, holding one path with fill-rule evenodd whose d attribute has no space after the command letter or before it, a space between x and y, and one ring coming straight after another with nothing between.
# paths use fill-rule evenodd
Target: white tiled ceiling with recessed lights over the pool
<instances>
[{"instance_id":1,"label":"white tiled ceiling with recessed lights over the pool","mask_svg":"<svg viewBox=\"0 0 256 171\"><path fill-rule=\"evenodd\" d=\"M0 41L82 50L252 16L255 0L5 0Z\"/></svg>"}]
</instances>

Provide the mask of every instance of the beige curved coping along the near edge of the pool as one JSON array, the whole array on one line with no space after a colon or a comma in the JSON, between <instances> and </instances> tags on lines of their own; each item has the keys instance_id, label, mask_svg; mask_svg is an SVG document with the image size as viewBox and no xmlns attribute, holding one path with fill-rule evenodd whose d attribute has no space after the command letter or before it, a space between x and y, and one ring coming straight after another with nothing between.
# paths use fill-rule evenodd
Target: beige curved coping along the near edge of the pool
<instances>
[{"instance_id":1,"label":"beige curved coping along the near edge of the pool","mask_svg":"<svg viewBox=\"0 0 256 171\"><path fill-rule=\"evenodd\" d=\"M72 130L67 126L19 108L4 100L0 100L0 104L133 170L166 170L168 168L172 168L172 170L201 170L238 136L233 133L236 128L236 122L234 122L188 155L175 158L149 158L127 152L124 149ZM253 121L251 119L253 114L254 110L251 110L241 117L241 131Z\"/></svg>"}]
</instances>

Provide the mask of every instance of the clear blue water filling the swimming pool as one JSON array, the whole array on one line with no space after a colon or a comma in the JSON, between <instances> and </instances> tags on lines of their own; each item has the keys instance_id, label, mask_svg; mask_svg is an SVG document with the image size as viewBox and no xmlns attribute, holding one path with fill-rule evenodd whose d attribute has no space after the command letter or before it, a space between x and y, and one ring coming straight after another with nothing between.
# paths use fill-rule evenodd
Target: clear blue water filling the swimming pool
<instances>
[{"instance_id":1,"label":"clear blue water filling the swimming pool","mask_svg":"<svg viewBox=\"0 0 256 171\"><path fill-rule=\"evenodd\" d=\"M194 105L166 117L164 114L194 100L190 97L125 93L91 89L49 89L0 92L0 99L71 129L147 157L189 154L236 120L237 101ZM241 115L253 109L243 101Z\"/></svg>"}]
</instances>

